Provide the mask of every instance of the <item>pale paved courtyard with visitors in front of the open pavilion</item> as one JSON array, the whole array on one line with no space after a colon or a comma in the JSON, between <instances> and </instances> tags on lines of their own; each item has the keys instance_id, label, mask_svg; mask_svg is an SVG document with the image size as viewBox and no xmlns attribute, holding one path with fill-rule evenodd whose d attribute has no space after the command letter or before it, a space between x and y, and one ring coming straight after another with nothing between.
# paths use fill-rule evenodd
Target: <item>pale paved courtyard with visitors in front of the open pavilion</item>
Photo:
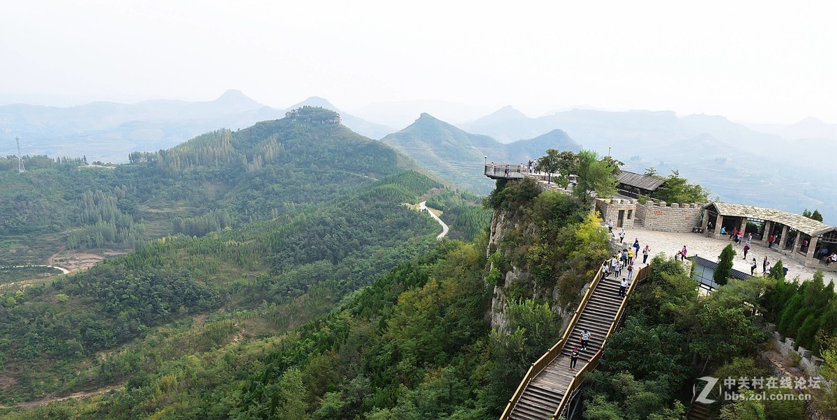
<instances>
[{"instance_id":1,"label":"pale paved courtyard with visitors in front of the open pavilion","mask_svg":"<svg viewBox=\"0 0 837 420\"><path fill-rule=\"evenodd\" d=\"M614 228L614 233L619 238L619 228ZM646 230L644 228L625 229L625 247L634 244L634 238L639 238L639 245L641 248L639 261L642 261L641 251L648 243L651 246L651 254L649 262L654 255L664 253L667 256L673 256L676 252L686 245L689 251L689 256L697 255L704 259L716 261L718 255L721 254L721 249L727 246L727 243L733 243L728 236L722 236L720 239L706 238L701 233L676 233L676 232L660 232L655 230ZM758 263L756 274L762 273L762 260L764 256L768 256L770 264L775 264L779 259L782 259L782 264L788 268L788 279L799 277L799 279L807 280L814 275L816 269L804 267L798 261L791 259L790 251L782 251L778 249L768 249L767 245L752 241L752 249L747 252L747 261L743 259L744 250L742 245L733 245L737 255L732 266L733 269L750 274L750 263L755 258ZM748 262L749 261L749 262ZM641 264L639 264L641 266ZM769 269L768 269L769 270ZM825 283L829 280L834 280L837 284L837 273L834 271L824 271Z\"/></svg>"}]
</instances>

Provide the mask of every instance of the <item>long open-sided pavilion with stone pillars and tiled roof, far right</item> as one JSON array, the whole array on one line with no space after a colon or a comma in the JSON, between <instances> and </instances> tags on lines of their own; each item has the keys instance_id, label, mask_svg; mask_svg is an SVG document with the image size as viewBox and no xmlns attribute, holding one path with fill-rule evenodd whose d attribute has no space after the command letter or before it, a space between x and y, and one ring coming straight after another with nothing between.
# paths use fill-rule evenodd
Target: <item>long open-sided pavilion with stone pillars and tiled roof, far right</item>
<instances>
[{"instance_id":1,"label":"long open-sided pavilion with stone pillars and tiled roof, far right","mask_svg":"<svg viewBox=\"0 0 837 420\"><path fill-rule=\"evenodd\" d=\"M800 214L727 202L710 202L703 211L703 228L714 220L715 238L721 238L721 226L732 232L733 228L746 231L747 221L763 224L762 243L768 245L768 238L778 235L773 246L787 250L793 259L803 260L806 267L819 263L820 250L837 251L837 228Z\"/></svg>"}]
</instances>

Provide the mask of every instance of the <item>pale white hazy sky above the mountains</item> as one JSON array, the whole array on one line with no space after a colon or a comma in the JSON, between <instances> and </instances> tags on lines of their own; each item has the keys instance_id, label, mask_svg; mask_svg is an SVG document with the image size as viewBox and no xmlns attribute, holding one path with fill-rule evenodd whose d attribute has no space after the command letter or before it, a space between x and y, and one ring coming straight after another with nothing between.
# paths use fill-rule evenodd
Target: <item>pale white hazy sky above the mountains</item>
<instances>
[{"instance_id":1,"label":"pale white hazy sky above the mountains","mask_svg":"<svg viewBox=\"0 0 837 420\"><path fill-rule=\"evenodd\" d=\"M835 16L831 1L3 0L0 94L837 123Z\"/></svg>"}]
</instances>

